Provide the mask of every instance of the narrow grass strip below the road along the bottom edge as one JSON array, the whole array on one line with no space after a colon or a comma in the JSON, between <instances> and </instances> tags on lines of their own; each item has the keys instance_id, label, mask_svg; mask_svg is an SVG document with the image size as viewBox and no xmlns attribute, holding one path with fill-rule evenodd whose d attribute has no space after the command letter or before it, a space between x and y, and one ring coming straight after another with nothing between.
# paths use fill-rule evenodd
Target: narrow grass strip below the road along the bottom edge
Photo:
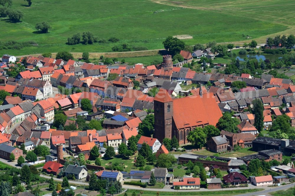
<instances>
[{"instance_id":1,"label":"narrow grass strip below the road along the bottom edge","mask_svg":"<svg viewBox=\"0 0 295 196\"><path fill-rule=\"evenodd\" d=\"M226 190L226 191L196 191L196 192L184 192L184 191L177 191L177 192L169 192L169 191L161 191L159 192L159 195L206 195L206 196L212 196L212 195L219 195L219 196L228 196L228 195L238 195L240 193L248 193L248 192L256 192L263 189L243 189L243 190ZM132 193L135 191L136 194L140 194L142 191L143 194L140 194L141 196L150 196L150 195L157 195L157 191L145 191L145 190L133 190L129 189L127 190L127 195L131 196ZM124 195L124 193L120 194Z\"/></svg>"}]
</instances>

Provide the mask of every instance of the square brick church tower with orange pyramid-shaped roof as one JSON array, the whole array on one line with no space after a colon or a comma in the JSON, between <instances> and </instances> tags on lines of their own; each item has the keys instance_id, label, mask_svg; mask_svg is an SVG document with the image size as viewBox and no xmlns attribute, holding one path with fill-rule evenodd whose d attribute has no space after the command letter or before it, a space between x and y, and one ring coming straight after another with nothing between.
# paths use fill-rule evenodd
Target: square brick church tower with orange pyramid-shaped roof
<instances>
[{"instance_id":1,"label":"square brick church tower with orange pyramid-shaped roof","mask_svg":"<svg viewBox=\"0 0 295 196\"><path fill-rule=\"evenodd\" d=\"M172 138L173 100L165 89L160 89L154 98L155 132L153 137L160 142Z\"/></svg>"}]
</instances>

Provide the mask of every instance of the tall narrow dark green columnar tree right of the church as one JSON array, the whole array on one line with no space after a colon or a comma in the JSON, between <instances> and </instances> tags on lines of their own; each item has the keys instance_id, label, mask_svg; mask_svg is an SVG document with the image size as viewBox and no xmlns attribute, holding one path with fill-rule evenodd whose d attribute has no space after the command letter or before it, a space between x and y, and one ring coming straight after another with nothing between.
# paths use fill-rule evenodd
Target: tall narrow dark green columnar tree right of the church
<instances>
[{"instance_id":1,"label":"tall narrow dark green columnar tree right of the church","mask_svg":"<svg viewBox=\"0 0 295 196\"><path fill-rule=\"evenodd\" d=\"M252 103L253 103L253 114L255 115L254 126L260 132L263 130L263 127L264 127L263 103L261 99L254 99Z\"/></svg>"}]
</instances>

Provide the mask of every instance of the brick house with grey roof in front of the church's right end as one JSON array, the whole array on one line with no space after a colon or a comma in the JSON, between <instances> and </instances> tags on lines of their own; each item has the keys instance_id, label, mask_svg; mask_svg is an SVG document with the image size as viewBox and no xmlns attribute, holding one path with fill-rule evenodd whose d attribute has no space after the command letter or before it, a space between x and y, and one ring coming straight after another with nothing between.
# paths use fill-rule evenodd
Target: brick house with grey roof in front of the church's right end
<instances>
[{"instance_id":1,"label":"brick house with grey roof in front of the church's right end","mask_svg":"<svg viewBox=\"0 0 295 196\"><path fill-rule=\"evenodd\" d=\"M226 152L229 145L229 141L227 140L225 135L219 135L216 137L212 137L207 141L207 147L209 151L212 152Z\"/></svg>"}]
</instances>

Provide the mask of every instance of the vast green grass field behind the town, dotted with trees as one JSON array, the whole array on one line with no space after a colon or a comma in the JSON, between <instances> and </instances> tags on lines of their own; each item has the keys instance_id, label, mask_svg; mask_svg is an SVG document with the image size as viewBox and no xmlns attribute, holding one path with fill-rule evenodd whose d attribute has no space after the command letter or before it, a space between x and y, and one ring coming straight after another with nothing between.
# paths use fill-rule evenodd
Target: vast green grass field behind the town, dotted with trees
<instances>
[{"instance_id":1,"label":"vast green grass field behind the town, dotted with trees","mask_svg":"<svg viewBox=\"0 0 295 196\"><path fill-rule=\"evenodd\" d=\"M0 50L12 55L43 52L112 52L114 45L128 43L161 49L167 36L189 35L187 44L208 41L248 41L268 34L288 34L294 30L293 0L137 0L79 1L35 0L27 7L14 0L12 8L24 12L20 23L0 19L0 41L35 41L38 46L20 50ZM275 13L275 14L274 14ZM35 24L48 21L49 33L38 34ZM66 45L74 33L91 31L99 39L117 37L117 43ZM283 33L278 33L283 31Z\"/></svg>"}]
</instances>

